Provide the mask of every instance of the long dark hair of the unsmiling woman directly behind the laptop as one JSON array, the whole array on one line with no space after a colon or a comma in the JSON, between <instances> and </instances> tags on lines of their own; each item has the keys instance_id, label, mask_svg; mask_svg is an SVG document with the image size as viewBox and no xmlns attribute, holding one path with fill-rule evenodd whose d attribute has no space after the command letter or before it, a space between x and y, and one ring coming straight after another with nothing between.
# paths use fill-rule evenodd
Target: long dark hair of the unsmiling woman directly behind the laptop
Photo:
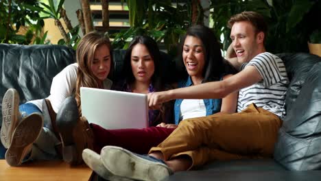
<instances>
[{"instance_id":1,"label":"long dark hair of the unsmiling woman directly behind the laptop","mask_svg":"<svg viewBox=\"0 0 321 181\"><path fill-rule=\"evenodd\" d=\"M162 75L162 64L160 63L160 51L158 45L153 38L150 36L136 36L131 42L126 51L125 60L123 62L123 75L127 84L134 82L135 77L132 74L132 66L130 64L132 49L137 44L145 45L147 50L150 52L150 56L154 60L154 74L152 75L152 85L156 91L161 91L164 89L163 75Z\"/></svg>"}]
</instances>

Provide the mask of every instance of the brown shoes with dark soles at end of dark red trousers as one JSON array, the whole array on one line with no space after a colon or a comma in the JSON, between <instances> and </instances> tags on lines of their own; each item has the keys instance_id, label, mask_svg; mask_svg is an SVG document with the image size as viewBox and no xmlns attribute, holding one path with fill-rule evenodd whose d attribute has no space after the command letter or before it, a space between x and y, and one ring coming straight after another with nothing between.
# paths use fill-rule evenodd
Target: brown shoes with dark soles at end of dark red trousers
<instances>
[{"instance_id":1,"label":"brown shoes with dark soles at end of dark red trousers","mask_svg":"<svg viewBox=\"0 0 321 181\"><path fill-rule=\"evenodd\" d=\"M79 117L78 106L73 97L62 103L57 113L57 129L62 141L62 158L70 165L82 163L82 150L93 149L93 132L84 117Z\"/></svg>"}]
</instances>

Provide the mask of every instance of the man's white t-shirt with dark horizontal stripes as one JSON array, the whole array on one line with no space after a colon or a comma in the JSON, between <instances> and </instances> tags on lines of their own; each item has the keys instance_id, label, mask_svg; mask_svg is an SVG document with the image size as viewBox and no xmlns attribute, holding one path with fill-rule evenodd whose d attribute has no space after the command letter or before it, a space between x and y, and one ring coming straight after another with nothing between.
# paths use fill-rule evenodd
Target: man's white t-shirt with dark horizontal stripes
<instances>
[{"instance_id":1,"label":"man's white t-shirt with dark horizontal stripes","mask_svg":"<svg viewBox=\"0 0 321 181\"><path fill-rule=\"evenodd\" d=\"M241 69L254 66L263 77L261 82L239 90L237 112L254 103L258 107L285 117L285 93L289 86L287 71L281 58L272 53L260 53Z\"/></svg>"}]
</instances>

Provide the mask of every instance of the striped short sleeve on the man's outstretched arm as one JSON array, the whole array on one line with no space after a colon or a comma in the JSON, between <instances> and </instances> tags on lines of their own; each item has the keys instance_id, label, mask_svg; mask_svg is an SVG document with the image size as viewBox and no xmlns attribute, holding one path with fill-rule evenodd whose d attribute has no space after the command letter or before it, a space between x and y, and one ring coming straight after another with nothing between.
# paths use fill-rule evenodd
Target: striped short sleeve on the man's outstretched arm
<instances>
[{"instance_id":1,"label":"striped short sleeve on the man's outstretched arm","mask_svg":"<svg viewBox=\"0 0 321 181\"><path fill-rule=\"evenodd\" d=\"M268 87L282 80L282 75L278 64L281 59L277 59L271 53L260 53L255 56L248 65L254 66L263 78L263 86ZM282 60L281 60L282 61Z\"/></svg>"}]
</instances>

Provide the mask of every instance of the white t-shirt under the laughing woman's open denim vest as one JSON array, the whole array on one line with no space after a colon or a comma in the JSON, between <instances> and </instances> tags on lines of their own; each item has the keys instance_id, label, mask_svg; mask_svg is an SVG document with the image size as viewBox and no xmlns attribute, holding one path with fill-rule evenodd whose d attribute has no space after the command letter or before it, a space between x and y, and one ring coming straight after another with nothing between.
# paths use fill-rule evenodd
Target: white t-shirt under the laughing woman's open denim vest
<instances>
[{"instance_id":1,"label":"white t-shirt under the laughing woman's open denim vest","mask_svg":"<svg viewBox=\"0 0 321 181\"><path fill-rule=\"evenodd\" d=\"M203 99L183 99L180 104L180 120L205 117L206 107Z\"/></svg>"}]
</instances>

